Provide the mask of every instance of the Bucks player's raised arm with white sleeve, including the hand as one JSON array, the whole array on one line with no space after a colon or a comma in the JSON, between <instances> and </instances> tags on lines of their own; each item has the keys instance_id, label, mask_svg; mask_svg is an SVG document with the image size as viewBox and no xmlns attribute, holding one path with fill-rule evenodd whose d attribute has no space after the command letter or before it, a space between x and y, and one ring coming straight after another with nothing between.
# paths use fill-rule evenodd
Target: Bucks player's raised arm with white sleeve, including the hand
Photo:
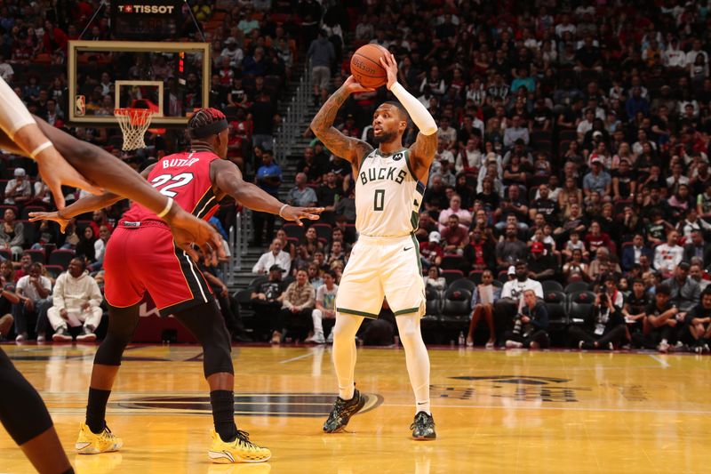
<instances>
[{"instance_id":1,"label":"Bucks player's raised arm with white sleeve, including the hand","mask_svg":"<svg viewBox=\"0 0 711 474\"><path fill-rule=\"evenodd\" d=\"M429 166L435 159L437 149L437 124L429 114L427 108L410 92L397 83L397 62L392 54L380 58L380 64L387 72L387 90L393 92L397 100L403 104L412 122L417 125L419 133L417 139L410 147L410 165L420 181L427 182Z\"/></svg>"}]
</instances>

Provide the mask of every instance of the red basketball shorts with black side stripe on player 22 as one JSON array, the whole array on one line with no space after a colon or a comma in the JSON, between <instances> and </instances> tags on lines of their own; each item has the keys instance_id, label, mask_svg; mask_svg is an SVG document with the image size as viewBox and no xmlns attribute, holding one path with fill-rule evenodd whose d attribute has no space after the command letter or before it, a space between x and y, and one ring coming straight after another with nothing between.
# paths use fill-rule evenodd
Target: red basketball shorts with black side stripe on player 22
<instances>
[{"instance_id":1,"label":"red basketball shorts with black side stripe on player 22","mask_svg":"<svg viewBox=\"0 0 711 474\"><path fill-rule=\"evenodd\" d=\"M104 270L106 301L116 308L139 303L147 291L164 315L212 300L203 273L161 221L119 222L108 240Z\"/></svg>"}]
</instances>

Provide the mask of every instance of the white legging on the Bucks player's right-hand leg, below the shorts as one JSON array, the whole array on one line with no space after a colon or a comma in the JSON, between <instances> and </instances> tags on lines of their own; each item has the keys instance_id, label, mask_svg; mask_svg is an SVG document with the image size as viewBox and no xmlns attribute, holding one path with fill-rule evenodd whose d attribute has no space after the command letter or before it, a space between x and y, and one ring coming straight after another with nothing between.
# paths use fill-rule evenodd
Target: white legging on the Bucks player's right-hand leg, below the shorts
<instances>
[{"instance_id":1,"label":"white legging on the Bucks player's right-hand leg, below the shorts","mask_svg":"<svg viewBox=\"0 0 711 474\"><path fill-rule=\"evenodd\" d=\"M419 330L419 315L397 316L395 320L400 332L400 341L405 349L412 392L415 394L415 414L432 414L429 406L429 356Z\"/></svg>"}]
</instances>

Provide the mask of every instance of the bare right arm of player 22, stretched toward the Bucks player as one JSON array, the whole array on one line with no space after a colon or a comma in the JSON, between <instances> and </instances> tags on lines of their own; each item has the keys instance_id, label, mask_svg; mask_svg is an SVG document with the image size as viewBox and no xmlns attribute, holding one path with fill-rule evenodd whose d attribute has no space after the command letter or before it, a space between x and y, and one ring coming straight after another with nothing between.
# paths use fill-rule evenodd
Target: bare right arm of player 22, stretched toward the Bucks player
<instances>
[{"instance_id":1,"label":"bare right arm of player 22, stretched toward the Bucks player","mask_svg":"<svg viewBox=\"0 0 711 474\"><path fill-rule=\"evenodd\" d=\"M318 214L324 211L323 207L293 207L292 205L285 205L258 186L244 181L239 168L227 160L215 160L212 162L210 165L210 178L221 192L234 197L250 209L262 213L278 214L287 221L296 221L299 225L303 225L301 224L301 219L316 221Z\"/></svg>"}]
</instances>

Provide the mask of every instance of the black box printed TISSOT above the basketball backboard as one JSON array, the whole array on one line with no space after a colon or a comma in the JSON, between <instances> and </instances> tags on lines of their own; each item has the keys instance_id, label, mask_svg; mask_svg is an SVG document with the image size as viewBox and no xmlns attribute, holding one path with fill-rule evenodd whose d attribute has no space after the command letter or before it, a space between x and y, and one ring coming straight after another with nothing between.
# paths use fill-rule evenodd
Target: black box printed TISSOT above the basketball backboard
<instances>
[{"instance_id":1,"label":"black box printed TISSOT above the basketball backboard","mask_svg":"<svg viewBox=\"0 0 711 474\"><path fill-rule=\"evenodd\" d=\"M115 0L111 2L111 28L116 39L150 41L180 35L180 0Z\"/></svg>"}]
</instances>

